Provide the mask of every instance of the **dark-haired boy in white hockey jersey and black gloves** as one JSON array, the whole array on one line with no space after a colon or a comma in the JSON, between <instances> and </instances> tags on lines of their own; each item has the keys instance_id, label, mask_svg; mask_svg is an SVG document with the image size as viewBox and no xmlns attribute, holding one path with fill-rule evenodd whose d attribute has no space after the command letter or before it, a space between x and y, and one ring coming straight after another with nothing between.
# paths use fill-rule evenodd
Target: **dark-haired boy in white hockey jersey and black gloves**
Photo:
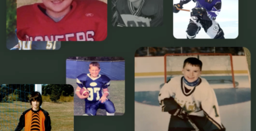
<instances>
[{"instance_id":1,"label":"dark-haired boy in white hockey jersey and black gloves","mask_svg":"<svg viewBox=\"0 0 256 131\"><path fill-rule=\"evenodd\" d=\"M221 124L215 91L206 79L200 77L201 60L189 57L183 63L182 74L170 79L160 90L158 101L162 112L169 112L168 130L226 130Z\"/></svg>"}]
</instances>

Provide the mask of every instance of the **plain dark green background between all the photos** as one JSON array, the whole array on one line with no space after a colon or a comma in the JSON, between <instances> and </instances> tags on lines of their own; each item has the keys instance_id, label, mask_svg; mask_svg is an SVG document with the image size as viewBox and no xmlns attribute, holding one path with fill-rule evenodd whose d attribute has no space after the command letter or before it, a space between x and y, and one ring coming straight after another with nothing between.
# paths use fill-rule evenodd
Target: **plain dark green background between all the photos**
<instances>
[{"instance_id":1,"label":"plain dark green background between all the photos","mask_svg":"<svg viewBox=\"0 0 256 131\"><path fill-rule=\"evenodd\" d=\"M225 1L225 0L222 0ZM239 1L239 35L235 40L177 40L172 35L172 1L164 1L163 27L112 27L108 0L108 36L101 42L62 42L59 51L9 51L6 48L6 1L0 1L0 83L66 83L66 58L71 56L124 57L126 60L126 112L123 116L75 116L74 130L134 130L134 54L142 46L244 46L255 57L255 1ZM76 24L76 23L74 23ZM186 27L184 27L185 29ZM251 61L254 67L254 60ZM149 65L150 66L150 65ZM252 68L252 94L255 93ZM251 130L256 130L252 99ZM63 108L65 110L65 108ZM60 113L62 111L60 110ZM230 119L230 121L232 121Z\"/></svg>"}]
</instances>

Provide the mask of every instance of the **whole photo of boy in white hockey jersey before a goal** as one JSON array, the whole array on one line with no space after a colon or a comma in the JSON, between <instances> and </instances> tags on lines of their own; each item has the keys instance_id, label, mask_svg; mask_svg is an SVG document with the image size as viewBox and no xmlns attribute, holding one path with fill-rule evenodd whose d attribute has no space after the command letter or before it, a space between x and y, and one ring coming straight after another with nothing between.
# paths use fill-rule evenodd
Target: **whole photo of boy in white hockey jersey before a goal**
<instances>
[{"instance_id":1,"label":"whole photo of boy in white hockey jersey before a goal","mask_svg":"<svg viewBox=\"0 0 256 131\"><path fill-rule=\"evenodd\" d=\"M137 49L135 131L139 130L250 131L249 50Z\"/></svg>"}]
</instances>

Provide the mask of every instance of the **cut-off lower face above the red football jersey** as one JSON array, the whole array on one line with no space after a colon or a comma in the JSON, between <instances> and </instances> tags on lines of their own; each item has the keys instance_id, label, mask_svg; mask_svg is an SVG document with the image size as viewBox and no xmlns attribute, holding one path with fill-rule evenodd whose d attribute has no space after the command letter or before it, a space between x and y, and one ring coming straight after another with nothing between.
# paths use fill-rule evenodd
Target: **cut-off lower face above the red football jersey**
<instances>
[{"instance_id":1,"label":"cut-off lower face above the red football jersey","mask_svg":"<svg viewBox=\"0 0 256 131\"><path fill-rule=\"evenodd\" d=\"M73 0L41 0L46 7L46 10L51 12L61 13L66 9L70 8Z\"/></svg>"}]
</instances>

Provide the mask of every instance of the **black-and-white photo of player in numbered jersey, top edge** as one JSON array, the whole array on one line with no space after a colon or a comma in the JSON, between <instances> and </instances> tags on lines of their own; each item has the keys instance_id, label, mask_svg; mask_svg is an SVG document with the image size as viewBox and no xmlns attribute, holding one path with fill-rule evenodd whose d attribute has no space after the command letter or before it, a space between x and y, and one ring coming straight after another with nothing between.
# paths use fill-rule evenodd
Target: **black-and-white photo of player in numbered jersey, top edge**
<instances>
[{"instance_id":1,"label":"black-and-white photo of player in numbered jersey, top edge","mask_svg":"<svg viewBox=\"0 0 256 131\"><path fill-rule=\"evenodd\" d=\"M163 0L112 0L112 25L163 26Z\"/></svg>"}]
</instances>

